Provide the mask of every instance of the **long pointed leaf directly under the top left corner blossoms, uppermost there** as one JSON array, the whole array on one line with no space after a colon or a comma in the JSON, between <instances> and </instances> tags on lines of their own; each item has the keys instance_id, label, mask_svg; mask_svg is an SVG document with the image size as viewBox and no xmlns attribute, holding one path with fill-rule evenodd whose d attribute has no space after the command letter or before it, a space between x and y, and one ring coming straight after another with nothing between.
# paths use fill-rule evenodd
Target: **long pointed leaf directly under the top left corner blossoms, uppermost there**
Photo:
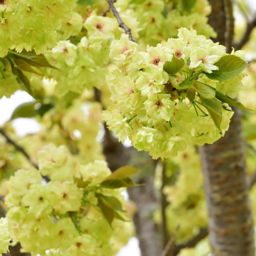
<instances>
[{"instance_id":1,"label":"long pointed leaf directly under the top left corner blossoms, uppermost there","mask_svg":"<svg viewBox=\"0 0 256 256\"><path fill-rule=\"evenodd\" d=\"M46 60L43 54L37 55L34 50L31 50L30 52L23 50L21 53L15 52L14 50L9 50L9 53L14 54L16 59L23 60L31 66L35 66L38 68L41 68L41 67L55 68L49 64L49 62Z\"/></svg>"}]
</instances>

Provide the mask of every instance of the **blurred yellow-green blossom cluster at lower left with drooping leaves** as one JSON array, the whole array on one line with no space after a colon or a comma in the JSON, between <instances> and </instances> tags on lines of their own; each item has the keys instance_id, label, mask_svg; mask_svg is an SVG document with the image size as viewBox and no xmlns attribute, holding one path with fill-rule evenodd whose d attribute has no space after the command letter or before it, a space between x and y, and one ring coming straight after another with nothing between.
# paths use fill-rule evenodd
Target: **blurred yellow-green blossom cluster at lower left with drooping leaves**
<instances>
[{"instance_id":1,"label":"blurred yellow-green blossom cluster at lower left with drooping leaves","mask_svg":"<svg viewBox=\"0 0 256 256\"><path fill-rule=\"evenodd\" d=\"M39 171L18 170L7 182L5 204L10 207L12 241L35 255L45 255L46 250L50 255L114 255L127 242L132 225L118 214L111 229L103 218L100 203L104 200L106 207L106 200L114 200L119 211L125 205L123 189L99 185L111 174L107 163L81 165L64 146L54 144L39 151L38 158ZM51 181L45 184L42 175ZM120 228L124 236L118 237Z\"/></svg>"}]
</instances>

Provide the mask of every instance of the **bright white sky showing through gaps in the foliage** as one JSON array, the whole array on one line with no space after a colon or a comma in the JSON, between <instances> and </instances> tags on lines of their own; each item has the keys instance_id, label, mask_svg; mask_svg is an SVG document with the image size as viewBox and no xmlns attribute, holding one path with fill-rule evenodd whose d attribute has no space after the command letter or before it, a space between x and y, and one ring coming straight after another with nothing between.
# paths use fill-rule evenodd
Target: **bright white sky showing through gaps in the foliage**
<instances>
[{"instance_id":1,"label":"bright white sky showing through gaps in the foliage","mask_svg":"<svg viewBox=\"0 0 256 256\"><path fill-rule=\"evenodd\" d=\"M245 0L250 5L252 11L256 11L256 0ZM16 91L10 99L3 97L0 99L0 126L6 121L10 120L12 112L17 106L25 102L34 101L25 91ZM16 118L12 122L17 134L20 137L25 136L27 133L37 133L40 131L40 125L32 118ZM131 143L126 140L124 146L129 147ZM127 196L127 195L126 195ZM136 237L130 238L128 244L124 246L116 256L141 256L139 249L139 241Z\"/></svg>"}]
</instances>

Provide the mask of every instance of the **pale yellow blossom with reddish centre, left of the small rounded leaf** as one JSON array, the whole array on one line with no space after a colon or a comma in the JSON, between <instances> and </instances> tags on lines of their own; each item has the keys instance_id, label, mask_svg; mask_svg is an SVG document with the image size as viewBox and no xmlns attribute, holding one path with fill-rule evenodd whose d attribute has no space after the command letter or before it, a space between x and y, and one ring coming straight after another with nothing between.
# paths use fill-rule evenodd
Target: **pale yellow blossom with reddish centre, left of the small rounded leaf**
<instances>
[{"instance_id":1,"label":"pale yellow blossom with reddish centre, left of the small rounded leaf","mask_svg":"<svg viewBox=\"0 0 256 256\"><path fill-rule=\"evenodd\" d=\"M141 54L146 63L154 64L158 67L158 70L162 71L165 61L172 60L174 50L158 44L157 47L147 46L147 52Z\"/></svg>"}]
</instances>

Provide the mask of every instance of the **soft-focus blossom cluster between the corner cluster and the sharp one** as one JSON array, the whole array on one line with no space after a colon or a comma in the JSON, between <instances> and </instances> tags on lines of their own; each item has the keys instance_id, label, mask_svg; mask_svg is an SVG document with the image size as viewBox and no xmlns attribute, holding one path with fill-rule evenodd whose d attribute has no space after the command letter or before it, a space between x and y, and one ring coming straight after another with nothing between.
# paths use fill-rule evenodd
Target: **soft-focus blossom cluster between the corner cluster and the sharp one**
<instances>
[{"instance_id":1,"label":"soft-focus blossom cluster between the corner cluster and the sharp one","mask_svg":"<svg viewBox=\"0 0 256 256\"><path fill-rule=\"evenodd\" d=\"M55 48L46 53L50 64L57 68L51 69L49 75L58 82L56 93L60 95L68 91L80 93L85 88L100 88L105 83L107 74L104 66L109 63L109 46L111 41L119 38L122 33L115 18L98 16L95 11L90 13L84 23L79 14L73 16L72 26L75 26L77 31L63 23L60 30L63 30L63 33L60 37L67 39L70 35L76 35L82 26L87 34L77 44L70 40L59 41ZM133 21L135 27L138 26L136 18L127 17L127 20Z\"/></svg>"}]
</instances>

